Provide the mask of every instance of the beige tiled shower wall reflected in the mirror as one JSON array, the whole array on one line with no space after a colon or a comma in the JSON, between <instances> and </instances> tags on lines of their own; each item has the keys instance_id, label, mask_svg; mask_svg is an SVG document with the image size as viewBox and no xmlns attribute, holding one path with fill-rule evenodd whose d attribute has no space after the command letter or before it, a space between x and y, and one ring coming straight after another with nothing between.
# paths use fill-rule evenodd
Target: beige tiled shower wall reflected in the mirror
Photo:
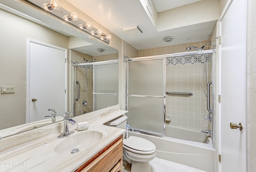
<instances>
[{"instance_id":1,"label":"beige tiled shower wall reflected in the mirror","mask_svg":"<svg viewBox=\"0 0 256 172\"><path fill-rule=\"evenodd\" d=\"M95 58L95 62L99 61L106 61L106 60L117 60L118 59L118 53L116 54L106 54L106 55L98 55L98 56L90 56L88 54L84 54L81 52L77 52L74 50L70 50L70 60L71 65L77 64L77 63L84 63L86 60L90 60L92 58ZM85 68L76 68L76 81L80 83L80 99L76 101L76 109L75 114L80 115L84 114L84 112L91 112L93 109L93 70L92 66L87 69L87 80L88 80L88 90L84 91L85 86ZM76 84L76 95L74 95L74 66L70 67L70 111L73 112L74 109L74 96L77 97L77 84ZM86 84L87 88L87 84ZM86 90L85 88L85 90ZM87 105L83 106L82 101L86 100Z\"/></svg>"}]
</instances>

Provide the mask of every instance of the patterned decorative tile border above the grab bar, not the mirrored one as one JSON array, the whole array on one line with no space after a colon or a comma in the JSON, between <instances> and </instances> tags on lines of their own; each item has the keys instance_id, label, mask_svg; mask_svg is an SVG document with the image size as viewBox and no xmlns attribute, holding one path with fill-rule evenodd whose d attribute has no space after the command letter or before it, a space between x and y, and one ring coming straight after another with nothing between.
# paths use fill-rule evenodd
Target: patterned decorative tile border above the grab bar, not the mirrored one
<instances>
[{"instance_id":1,"label":"patterned decorative tile border above the grab bar, not the mirrored one","mask_svg":"<svg viewBox=\"0 0 256 172\"><path fill-rule=\"evenodd\" d=\"M166 66L204 63L204 57L206 58L206 63L212 62L212 54L201 54L201 55L193 55L193 56L180 56L180 57L166 58Z\"/></svg>"}]
</instances>

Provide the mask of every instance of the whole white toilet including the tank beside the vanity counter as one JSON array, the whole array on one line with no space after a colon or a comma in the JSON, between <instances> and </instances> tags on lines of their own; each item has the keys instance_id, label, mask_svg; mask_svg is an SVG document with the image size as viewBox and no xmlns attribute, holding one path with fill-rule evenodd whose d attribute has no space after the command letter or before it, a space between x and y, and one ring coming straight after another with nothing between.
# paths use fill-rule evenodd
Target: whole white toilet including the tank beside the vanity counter
<instances>
[{"instance_id":1,"label":"whole white toilet including the tank beside the vanity counter","mask_svg":"<svg viewBox=\"0 0 256 172\"><path fill-rule=\"evenodd\" d=\"M106 125L126 128L126 116L120 116ZM149 161L156 157L156 146L140 137L130 136L123 140L124 172L150 172ZM131 168L130 168L131 165Z\"/></svg>"}]
</instances>

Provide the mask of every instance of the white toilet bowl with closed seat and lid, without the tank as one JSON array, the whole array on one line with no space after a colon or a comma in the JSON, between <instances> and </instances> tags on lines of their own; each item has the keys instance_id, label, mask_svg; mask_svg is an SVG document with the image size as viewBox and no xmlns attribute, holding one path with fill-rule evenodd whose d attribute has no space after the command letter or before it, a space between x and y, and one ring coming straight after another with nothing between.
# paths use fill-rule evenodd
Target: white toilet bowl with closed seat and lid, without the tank
<instances>
[{"instance_id":1,"label":"white toilet bowl with closed seat and lid, without the tank","mask_svg":"<svg viewBox=\"0 0 256 172\"><path fill-rule=\"evenodd\" d=\"M149 161L156 157L156 146L140 137L130 136L123 143L124 161L131 164L130 172L150 172ZM124 172L128 172L125 170Z\"/></svg>"}]
</instances>

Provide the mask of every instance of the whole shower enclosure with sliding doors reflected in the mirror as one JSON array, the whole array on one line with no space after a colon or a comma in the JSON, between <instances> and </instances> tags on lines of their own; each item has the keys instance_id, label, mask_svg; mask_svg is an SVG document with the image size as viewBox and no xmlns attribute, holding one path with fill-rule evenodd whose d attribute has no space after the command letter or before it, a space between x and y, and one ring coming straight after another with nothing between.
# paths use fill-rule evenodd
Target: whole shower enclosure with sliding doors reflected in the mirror
<instances>
[{"instance_id":1,"label":"whole shower enclosure with sliding doors reflected in the mirror","mask_svg":"<svg viewBox=\"0 0 256 172\"><path fill-rule=\"evenodd\" d=\"M94 61L72 61L74 116L118 104L118 60Z\"/></svg>"}]
</instances>

